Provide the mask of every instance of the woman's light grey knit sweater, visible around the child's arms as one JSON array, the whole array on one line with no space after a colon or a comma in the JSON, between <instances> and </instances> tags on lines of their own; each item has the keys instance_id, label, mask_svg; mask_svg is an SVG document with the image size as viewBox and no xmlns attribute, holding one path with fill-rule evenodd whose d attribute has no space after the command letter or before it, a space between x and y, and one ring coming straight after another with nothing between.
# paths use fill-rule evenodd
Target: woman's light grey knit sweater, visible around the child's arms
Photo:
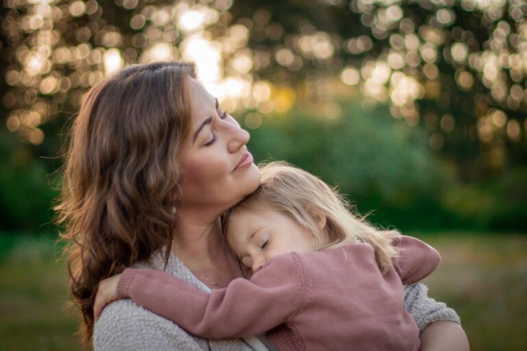
<instances>
[{"instance_id":1,"label":"woman's light grey knit sweater, visible around the child's arms","mask_svg":"<svg viewBox=\"0 0 527 351\"><path fill-rule=\"evenodd\" d=\"M136 267L163 269L164 257L158 254L150 262ZM166 271L196 285L199 289L204 289L191 271L174 255L170 256ZM459 323L459 317L452 308L428 298L425 285L407 285L404 292L405 308L412 314L420 330L432 322L441 320ZM229 351L240 350L242 342L237 339L207 340L195 337L174 322L126 299L108 304L104 308L93 330L93 346L95 351Z\"/></svg>"}]
</instances>

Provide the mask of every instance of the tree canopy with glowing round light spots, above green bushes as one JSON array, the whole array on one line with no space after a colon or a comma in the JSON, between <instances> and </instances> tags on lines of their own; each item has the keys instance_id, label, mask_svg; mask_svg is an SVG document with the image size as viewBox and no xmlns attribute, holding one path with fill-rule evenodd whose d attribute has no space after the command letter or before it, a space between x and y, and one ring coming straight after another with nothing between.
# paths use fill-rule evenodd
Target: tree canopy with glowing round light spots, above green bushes
<instances>
[{"instance_id":1,"label":"tree canopy with glowing round light spots, above green bushes","mask_svg":"<svg viewBox=\"0 0 527 351\"><path fill-rule=\"evenodd\" d=\"M484 180L527 164L526 14L523 0L3 0L0 151L14 156L0 166L56 156L105 75L183 59L255 132L298 125L302 111L331 124L386 106L386 121L419 131L458 179ZM387 133L373 134L389 145Z\"/></svg>"}]
</instances>

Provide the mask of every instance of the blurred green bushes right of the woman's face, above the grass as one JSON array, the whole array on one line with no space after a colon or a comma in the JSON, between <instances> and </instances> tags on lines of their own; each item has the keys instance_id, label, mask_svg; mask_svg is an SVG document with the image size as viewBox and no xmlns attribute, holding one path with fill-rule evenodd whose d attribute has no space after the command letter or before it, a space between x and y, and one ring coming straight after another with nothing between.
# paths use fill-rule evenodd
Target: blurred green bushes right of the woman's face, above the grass
<instances>
[{"instance_id":1,"label":"blurred green bushes right of the woman's face, above the grass","mask_svg":"<svg viewBox=\"0 0 527 351\"><path fill-rule=\"evenodd\" d=\"M401 230L525 231L526 169L462 183L423 130L386 118L384 106L341 104L329 120L297 107L251 131L256 160L288 160L338 186L370 220Z\"/></svg>"}]
</instances>

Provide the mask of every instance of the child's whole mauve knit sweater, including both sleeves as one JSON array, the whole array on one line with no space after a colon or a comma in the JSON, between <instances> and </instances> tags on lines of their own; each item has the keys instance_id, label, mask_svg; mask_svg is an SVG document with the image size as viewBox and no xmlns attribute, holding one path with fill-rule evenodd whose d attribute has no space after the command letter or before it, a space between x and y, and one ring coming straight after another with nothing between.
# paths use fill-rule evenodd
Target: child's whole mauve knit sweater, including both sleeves
<instances>
[{"instance_id":1,"label":"child's whole mauve knit sweater, including both sleeves","mask_svg":"<svg viewBox=\"0 0 527 351\"><path fill-rule=\"evenodd\" d=\"M118 293L209 339L270 330L279 350L419 350L402 285L428 276L440 257L411 237L395 246L399 261L384 275L371 245L353 243L277 256L210 294L162 271L126 269Z\"/></svg>"}]
</instances>

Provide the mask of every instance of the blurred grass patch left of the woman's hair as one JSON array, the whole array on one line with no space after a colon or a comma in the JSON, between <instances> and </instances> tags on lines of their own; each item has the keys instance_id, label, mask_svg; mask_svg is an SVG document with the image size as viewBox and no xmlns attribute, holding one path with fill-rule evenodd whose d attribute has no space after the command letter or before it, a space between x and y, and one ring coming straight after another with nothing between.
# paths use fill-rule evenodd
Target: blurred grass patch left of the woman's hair
<instances>
[{"instance_id":1,"label":"blurred grass patch left of the woman's hair","mask_svg":"<svg viewBox=\"0 0 527 351\"><path fill-rule=\"evenodd\" d=\"M54 239L0 234L0 350L79 350Z\"/></svg>"}]
</instances>

